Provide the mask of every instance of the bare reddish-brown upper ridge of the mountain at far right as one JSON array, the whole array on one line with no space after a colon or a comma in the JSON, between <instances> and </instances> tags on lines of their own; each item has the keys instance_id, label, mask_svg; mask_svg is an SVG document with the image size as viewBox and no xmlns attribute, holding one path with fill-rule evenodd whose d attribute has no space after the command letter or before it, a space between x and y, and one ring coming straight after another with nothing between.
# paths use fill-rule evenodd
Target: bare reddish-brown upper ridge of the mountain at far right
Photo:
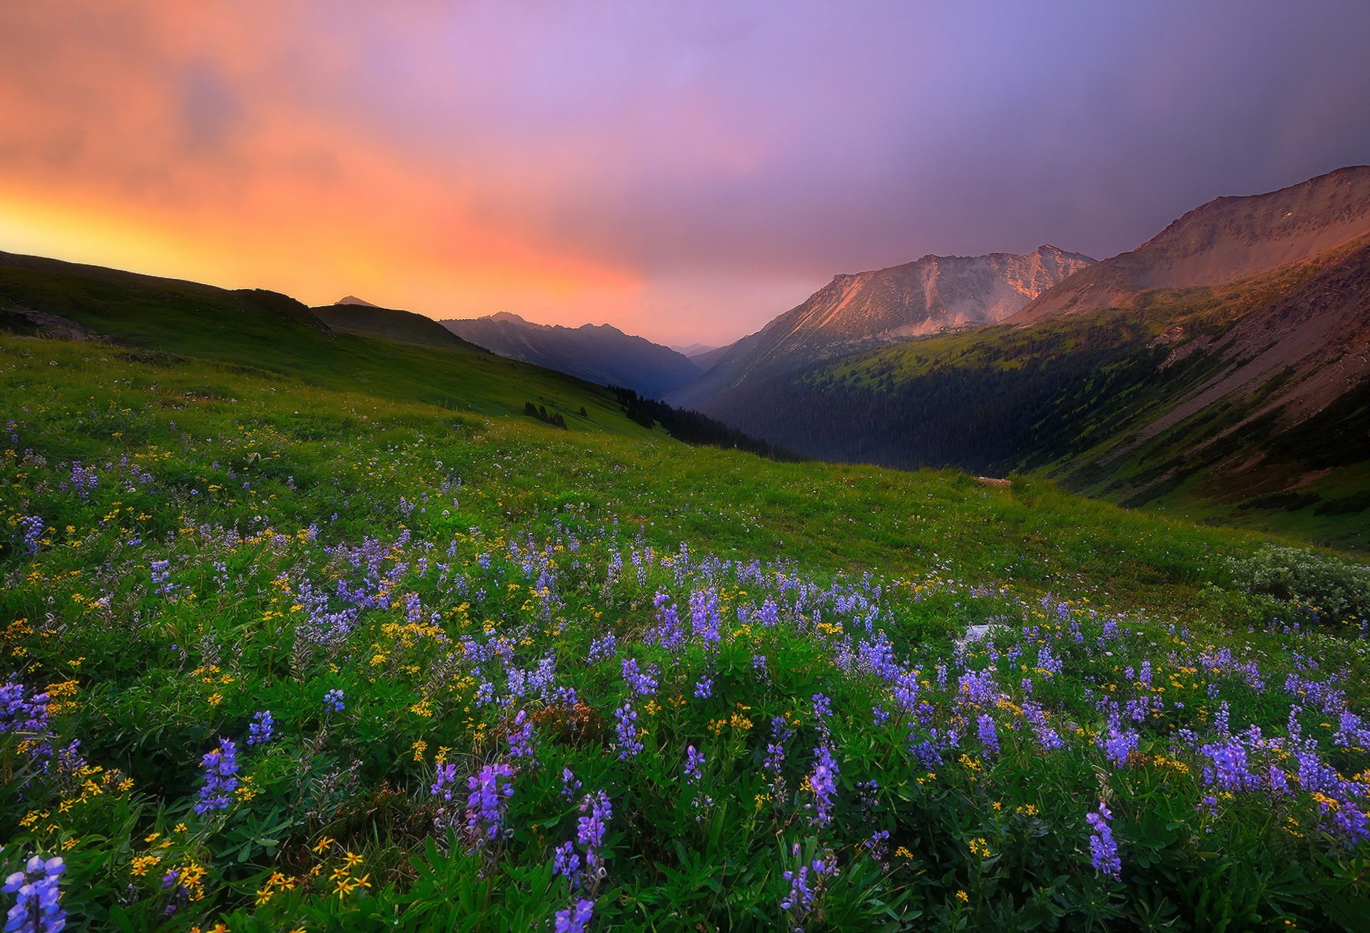
<instances>
[{"instance_id":1,"label":"bare reddish-brown upper ridge of the mountain at far right","mask_svg":"<svg viewBox=\"0 0 1370 933\"><path fill-rule=\"evenodd\" d=\"M1307 262L1370 229L1370 166L1354 166L1265 195L1218 197L1132 252L1056 285L1014 315L1026 326L1058 314L1128 307L1158 288L1223 285Z\"/></svg>"}]
</instances>

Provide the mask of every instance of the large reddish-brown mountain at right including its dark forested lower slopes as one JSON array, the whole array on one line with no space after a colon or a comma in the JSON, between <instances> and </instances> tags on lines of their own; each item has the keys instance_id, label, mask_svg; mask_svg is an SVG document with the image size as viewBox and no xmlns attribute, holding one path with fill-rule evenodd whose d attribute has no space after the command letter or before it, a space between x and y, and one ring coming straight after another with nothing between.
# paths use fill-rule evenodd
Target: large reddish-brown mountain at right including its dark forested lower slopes
<instances>
[{"instance_id":1,"label":"large reddish-brown mountain at right including its dark forested lower slopes","mask_svg":"<svg viewBox=\"0 0 1370 933\"><path fill-rule=\"evenodd\" d=\"M1370 547L1370 169L1191 211L1000 325L752 380L706 410L797 453L1033 471Z\"/></svg>"}]
</instances>

